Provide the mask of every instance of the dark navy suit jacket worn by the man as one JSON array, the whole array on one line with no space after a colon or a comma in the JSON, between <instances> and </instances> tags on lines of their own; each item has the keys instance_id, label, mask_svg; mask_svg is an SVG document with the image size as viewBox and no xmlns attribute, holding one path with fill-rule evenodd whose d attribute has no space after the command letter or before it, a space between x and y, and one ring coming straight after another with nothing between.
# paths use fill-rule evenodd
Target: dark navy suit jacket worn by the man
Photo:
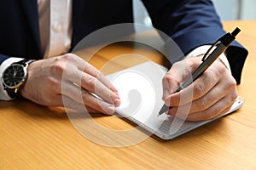
<instances>
[{"instance_id":1,"label":"dark navy suit jacket worn by the man","mask_svg":"<svg viewBox=\"0 0 256 170\"><path fill-rule=\"evenodd\" d=\"M164 31L188 54L215 42L224 30L210 0L143 0L155 28ZM133 22L131 0L73 0L74 47L83 37L104 26ZM0 2L0 64L9 57L42 59L37 0ZM247 50L237 42L227 50L236 82Z\"/></svg>"}]
</instances>

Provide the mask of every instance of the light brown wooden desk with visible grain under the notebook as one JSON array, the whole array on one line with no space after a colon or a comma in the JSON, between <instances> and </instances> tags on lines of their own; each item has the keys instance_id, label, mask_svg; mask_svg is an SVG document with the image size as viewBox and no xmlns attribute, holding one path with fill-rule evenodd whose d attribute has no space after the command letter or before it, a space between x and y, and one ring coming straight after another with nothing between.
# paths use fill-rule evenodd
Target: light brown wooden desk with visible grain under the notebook
<instances>
[{"instance_id":1,"label":"light brown wooden desk with visible grain under the notebook","mask_svg":"<svg viewBox=\"0 0 256 170\"><path fill-rule=\"evenodd\" d=\"M245 97L240 111L177 139L161 141L149 137L139 144L113 148L84 138L61 108L28 101L1 101L0 169L255 169L256 21L224 23L227 31L236 26L242 30L237 39L250 52L238 86L239 94ZM103 49L96 54L97 62L90 62L102 68L120 51L145 54L162 62L154 51L129 45ZM133 65L143 59L128 61ZM132 127L116 116L95 118L107 127Z\"/></svg>"}]
</instances>

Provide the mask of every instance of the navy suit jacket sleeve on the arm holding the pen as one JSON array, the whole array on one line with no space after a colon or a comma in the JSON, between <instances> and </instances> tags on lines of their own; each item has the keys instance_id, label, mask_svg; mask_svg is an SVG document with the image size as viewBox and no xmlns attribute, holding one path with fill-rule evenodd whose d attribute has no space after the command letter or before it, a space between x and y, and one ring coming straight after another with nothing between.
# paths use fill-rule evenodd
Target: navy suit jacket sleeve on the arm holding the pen
<instances>
[{"instance_id":1,"label":"navy suit jacket sleeve on the arm holding the pen","mask_svg":"<svg viewBox=\"0 0 256 170\"><path fill-rule=\"evenodd\" d=\"M183 54L212 44L225 34L210 0L143 0L155 28L169 35ZM172 52L171 52L172 53ZM233 77L239 84L247 50L238 42L226 51Z\"/></svg>"}]
</instances>

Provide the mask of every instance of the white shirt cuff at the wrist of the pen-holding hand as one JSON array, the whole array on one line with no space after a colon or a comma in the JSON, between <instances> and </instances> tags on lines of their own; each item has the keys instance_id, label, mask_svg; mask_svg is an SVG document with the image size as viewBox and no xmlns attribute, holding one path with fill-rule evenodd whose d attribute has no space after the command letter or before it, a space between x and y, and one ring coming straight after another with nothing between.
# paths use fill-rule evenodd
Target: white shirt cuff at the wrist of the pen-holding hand
<instances>
[{"instance_id":1,"label":"white shirt cuff at the wrist of the pen-holding hand","mask_svg":"<svg viewBox=\"0 0 256 170\"><path fill-rule=\"evenodd\" d=\"M191 58L191 57L196 57L198 55L201 55L201 54L206 54L207 53L207 50L209 48L211 48L212 46L211 45L203 45L203 46L200 46L198 48L195 48L193 51L191 51L187 56L186 58ZM215 48L212 48L212 51L214 50ZM211 51L211 52L212 52ZM210 52L210 53L211 53ZM230 70L230 63L226 57L226 55L223 53L223 54L220 54L218 59L220 59L222 61L222 63L229 69L229 71L231 72Z\"/></svg>"}]
</instances>

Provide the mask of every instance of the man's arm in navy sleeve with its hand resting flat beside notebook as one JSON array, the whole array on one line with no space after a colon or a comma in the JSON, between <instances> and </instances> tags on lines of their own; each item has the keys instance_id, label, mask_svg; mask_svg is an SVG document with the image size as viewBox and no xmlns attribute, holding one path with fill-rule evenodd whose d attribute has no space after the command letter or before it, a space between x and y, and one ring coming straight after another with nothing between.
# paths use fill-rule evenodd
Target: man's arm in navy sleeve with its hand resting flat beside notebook
<instances>
[{"instance_id":1,"label":"man's arm in navy sleeve with its hand resting flat beside notebook","mask_svg":"<svg viewBox=\"0 0 256 170\"><path fill-rule=\"evenodd\" d=\"M8 16L1 18L4 25L0 26L0 54L37 59L28 65L26 83L19 88L24 98L48 106L63 106L63 99L66 99L68 102L65 106L69 108L79 110L86 106L89 111L114 113L114 106L119 105L119 95L95 67L75 54L42 59L37 1L6 1L1 3L0 8L0 14ZM5 70L11 65L11 58L0 57L3 61L0 67ZM66 77L62 77L64 73ZM14 72L14 75L17 74ZM2 83L1 86L3 87ZM10 99L3 88L0 92L0 99Z\"/></svg>"}]
</instances>

